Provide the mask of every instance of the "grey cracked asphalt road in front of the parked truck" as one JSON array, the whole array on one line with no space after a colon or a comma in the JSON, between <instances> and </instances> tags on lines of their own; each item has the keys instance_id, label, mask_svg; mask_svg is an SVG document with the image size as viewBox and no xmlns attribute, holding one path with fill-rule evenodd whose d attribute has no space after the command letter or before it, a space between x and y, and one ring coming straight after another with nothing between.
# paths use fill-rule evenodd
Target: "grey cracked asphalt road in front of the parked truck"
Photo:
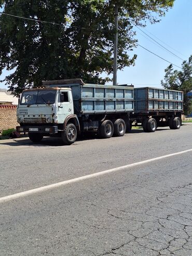
<instances>
[{"instance_id":1,"label":"grey cracked asphalt road in front of the parked truck","mask_svg":"<svg viewBox=\"0 0 192 256\"><path fill-rule=\"evenodd\" d=\"M1 197L192 149L192 126L0 141ZM0 201L0 255L192 255L192 151Z\"/></svg>"}]
</instances>

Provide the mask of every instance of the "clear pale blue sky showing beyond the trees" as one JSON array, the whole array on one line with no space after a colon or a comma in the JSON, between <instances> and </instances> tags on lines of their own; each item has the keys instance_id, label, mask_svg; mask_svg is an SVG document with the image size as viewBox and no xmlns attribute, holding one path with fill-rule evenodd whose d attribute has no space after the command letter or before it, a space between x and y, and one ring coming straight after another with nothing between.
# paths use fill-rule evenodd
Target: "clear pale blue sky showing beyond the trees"
<instances>
[{"instance_id":1,"label":"clear pale blue sky showing beyond the trees","mask_svg":"<svg viewBox=\"0 0 192 256\"><path fill-rule=\"evenodd\" d=\"M165 17L156 24L148 24L142 29L149 36L164 47L172 51L175 55L183 60L187 60L192 55L192 1L191 0L176 0L172 9L166 13ZM136 38L138 43L150 51L153 51L160 57L170 61L177 66L181 66L182 60L171 55L166 50L160 48L152 42L152 39L147 39L140 30L136 29ZM152 34L150 34L152 33ZM145 37L144 37L145 36ZM163 44L161 41L169 45ZM133 51L128 52L130 56L138 55L135 66L127 67L117 73L118 84L133 84L135 87L153 86L161 87L160 81L164 77L164 69L169 65L168 62L159 59L152 53L138 46ZM174 67L179 70L179 68ZM8 74L4 71L0 76L3 79ZM6 88L4 83L0 83L0 88Z\"/></svg>"}]
</instances>

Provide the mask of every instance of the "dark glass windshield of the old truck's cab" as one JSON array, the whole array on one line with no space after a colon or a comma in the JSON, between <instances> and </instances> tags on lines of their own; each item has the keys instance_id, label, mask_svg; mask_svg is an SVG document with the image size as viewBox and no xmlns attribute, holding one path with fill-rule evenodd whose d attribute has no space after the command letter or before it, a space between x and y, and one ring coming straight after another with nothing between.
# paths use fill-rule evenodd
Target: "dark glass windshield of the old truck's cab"
<instances>
[{"instance_id":1,"label":"dark glass windshield of the old truck's cab","mask_svg":"<svg viewBox=\"0 0 192 256\"><path fill-rule=\"evenodd\" d=\"M56 99L56 90L24 91L21 96L21 105L53 104Z\"/></svg>"}]
</instances>

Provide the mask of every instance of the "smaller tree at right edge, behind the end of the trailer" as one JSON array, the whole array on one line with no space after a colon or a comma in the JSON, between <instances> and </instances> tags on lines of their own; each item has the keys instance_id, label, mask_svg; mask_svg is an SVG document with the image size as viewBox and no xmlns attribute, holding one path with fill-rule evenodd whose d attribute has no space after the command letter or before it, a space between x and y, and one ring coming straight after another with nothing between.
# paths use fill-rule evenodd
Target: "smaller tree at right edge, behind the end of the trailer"
<instances>
[{"instance_id":1,"label":"smaller tree at right edge, behind the end of the trailer","mask_svg":"<svg viewBox=\"0 0 192 256\"><path fill-rule=\"evenodd\" d=\"M169 65L164 70L164 81L161 80L161 85L166 89L182 90L184 99L184 114L187 115L192 112L192 97L189 96L189 92L192 90L192 55L188 61L183 61L182 70L173 70L173 65Z\"/></svg>"}]
</instances>

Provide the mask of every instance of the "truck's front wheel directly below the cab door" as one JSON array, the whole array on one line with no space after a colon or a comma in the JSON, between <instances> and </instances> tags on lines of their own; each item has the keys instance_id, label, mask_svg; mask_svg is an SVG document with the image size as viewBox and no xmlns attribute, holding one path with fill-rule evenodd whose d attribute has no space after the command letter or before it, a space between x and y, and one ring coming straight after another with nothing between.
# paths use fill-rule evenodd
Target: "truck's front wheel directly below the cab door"
<instances>
[{"instance_id":1,"label":"truck's front wheel directly below the cab door","mask_svg":"<svg viewBox=\"0 0 192 256\"><path fill-rule=\"evenodd\" d=\"M74 124L67 124L64 131L61 133L62 141L65 145L73 144L77 139L77 128Z\"/></svg>"}]
</instances>

